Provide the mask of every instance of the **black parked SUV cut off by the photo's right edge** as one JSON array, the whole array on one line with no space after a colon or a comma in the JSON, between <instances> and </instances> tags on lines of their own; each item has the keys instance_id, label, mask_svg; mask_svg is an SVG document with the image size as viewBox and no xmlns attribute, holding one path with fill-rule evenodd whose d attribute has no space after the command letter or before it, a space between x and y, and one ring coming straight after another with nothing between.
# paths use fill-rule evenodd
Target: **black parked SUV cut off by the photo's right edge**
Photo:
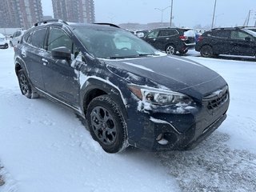
<instances>
[{"instance_id":1,"label":"black parked SUV cut off by the photo's right edge","mask_svg":"<svg viewBox=\"0 0 256 192\"><path fill-rule=\"evenodd\" d=\"M195 50L206 58L218 54L255 56L256 33L240 27L216 28L198 38Z\"/></svg>"}]
</instances>

